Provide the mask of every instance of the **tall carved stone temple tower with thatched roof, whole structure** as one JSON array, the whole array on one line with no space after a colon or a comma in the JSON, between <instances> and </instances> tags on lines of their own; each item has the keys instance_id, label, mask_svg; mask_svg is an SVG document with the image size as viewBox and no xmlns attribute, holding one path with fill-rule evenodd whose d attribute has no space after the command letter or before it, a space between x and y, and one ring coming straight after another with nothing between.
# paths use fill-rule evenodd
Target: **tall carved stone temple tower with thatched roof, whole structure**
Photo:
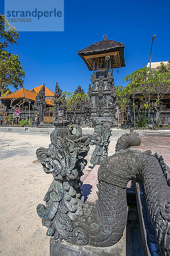
<instances>
[{"instance_id":1,"label":"tall carved stone temple tower with thatched roof, whole structure","mask_svg":"<svg viewBox=\"0 0 170 256\"><path fill-rule=\"evenodd\" d=\"M113 40L103 40L78 52L91 74L88 94L91 99L88 125L95 126L102 121L115 127L118 124L119 105L116 102L113 68L125 67L125 45Z\"/></svg>"}]
</instances>

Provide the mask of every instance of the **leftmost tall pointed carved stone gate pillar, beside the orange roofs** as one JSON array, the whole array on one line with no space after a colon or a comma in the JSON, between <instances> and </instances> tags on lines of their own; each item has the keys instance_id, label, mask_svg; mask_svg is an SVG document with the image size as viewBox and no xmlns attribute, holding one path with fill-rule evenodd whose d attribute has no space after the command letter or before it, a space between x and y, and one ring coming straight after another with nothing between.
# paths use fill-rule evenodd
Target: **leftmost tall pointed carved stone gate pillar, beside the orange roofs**
<instances>
[{"instance_id":1,"label":"leftmost tall pointed carved stone gate pillar, beside the orange roofs","mask_svg":"<svg viewBox=\"0 0 170 256\"><path fill-rule=\"evenodd\" d=\"M37 112L37 116L35 116L34 113L34 121L35 119L38 121L35 122L43 122L44 121L44 109L46 106L45 102L45 86L44 84L41 87L41 90L39 91L38 95L35 98L33 109Z\"/></svg>"}]
</instances>

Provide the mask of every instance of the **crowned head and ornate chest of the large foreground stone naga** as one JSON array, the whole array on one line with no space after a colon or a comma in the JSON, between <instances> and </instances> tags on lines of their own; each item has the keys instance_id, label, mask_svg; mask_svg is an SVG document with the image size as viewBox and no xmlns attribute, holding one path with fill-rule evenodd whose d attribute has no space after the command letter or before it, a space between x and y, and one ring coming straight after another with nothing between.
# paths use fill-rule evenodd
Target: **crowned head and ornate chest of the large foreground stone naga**
<instances>
[{"instance_id":1,"label":"crowned head and ornate chest of the large foreground stone naga","mask_svg":"<svg viewBox=\"0 0 170 256\"><path fill-rule=\"evenodd\" d=\"M87 164L84 158L91 138L83 135L79 126L68 127L67 124L68 120L59 112L58 119L54 122L56 128L50 135L51 144L48 148L38 148L36 151L44 171L54 177L44 198L46 206L39 204L37 213L42 218L43 225L48 227L48 236L70 242L76 242L79 236L83 236L83 243L87 244L85 233L74 227L73 223L83 216L84 197L80 189L80 177Z\"/></svg>"}]
</instances>

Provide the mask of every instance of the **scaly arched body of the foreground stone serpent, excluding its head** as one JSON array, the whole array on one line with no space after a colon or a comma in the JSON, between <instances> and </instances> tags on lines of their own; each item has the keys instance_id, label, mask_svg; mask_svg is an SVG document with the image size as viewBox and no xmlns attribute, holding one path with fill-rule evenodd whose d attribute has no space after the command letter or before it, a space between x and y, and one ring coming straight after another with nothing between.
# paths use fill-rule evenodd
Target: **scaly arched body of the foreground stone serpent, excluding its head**
<instances>
[{"instance_id":1,"label":"scaly arched body of the foreground stone serpent, excluding its head","mask_svg":"<svg viewBox=\"0 0 170 256\"><path fill-rule=\"evenodd\" d=\"M90 221L77 224L88 232L89 244L106 247L119 241L127 220L127 183L143 180L159 247L164 256L169 256L170 188L156 155L151 151L120 151L102 162L98 180L99 199Z\"/></svg>"}]
</instances>

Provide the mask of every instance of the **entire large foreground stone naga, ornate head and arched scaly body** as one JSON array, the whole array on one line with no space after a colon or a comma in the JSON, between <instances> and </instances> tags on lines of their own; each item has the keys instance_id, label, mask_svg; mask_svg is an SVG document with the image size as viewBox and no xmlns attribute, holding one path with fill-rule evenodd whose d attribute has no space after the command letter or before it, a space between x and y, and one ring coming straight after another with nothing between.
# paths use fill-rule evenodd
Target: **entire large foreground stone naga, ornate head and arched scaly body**
<instances>
[{"instance_id":1,"label":"entire large foreground stone naga, ornate head and arched scaly body","mask_svg":"<svg viewBox=\"0 0 170 256\"><path fill-rule=\"evenodd\" d=\"M70 134L74 127L76 134ZM54 177L44 198L46 206L37 206L43 225L48 227L47 235L77 245L109 247L116 244L127 221L127 183L143 180L159 247L163 256L169 256L169 169L151 151L121 150L101 163L96 206L84 203L80 177L90 141L88 136L82 135L81 128L74 127L56 128L51 134L49 148L39 148L36 152L44 171Z\"/></svg>"}]
</instances>

